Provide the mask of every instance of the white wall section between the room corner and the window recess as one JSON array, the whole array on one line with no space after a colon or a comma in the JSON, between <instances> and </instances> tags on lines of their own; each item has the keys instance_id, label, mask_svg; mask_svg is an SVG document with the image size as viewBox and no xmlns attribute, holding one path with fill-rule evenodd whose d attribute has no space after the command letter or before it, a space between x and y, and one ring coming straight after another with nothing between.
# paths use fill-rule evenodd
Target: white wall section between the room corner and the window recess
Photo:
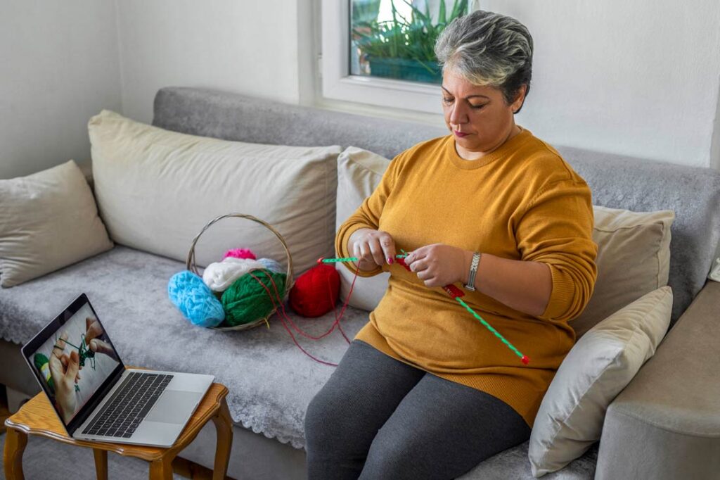
<instances>
[{"instance_id":1,"label":"white wall section between the room corner and the window recess","mask_svg":"<svg viewBox=\"0 0 720 480\"><path fill-rule=\"evenodd\" d=\"M123 113L149 123L162 86L299 103L297 18L303 1L117 1Z\"/></svg>"}]
</instances>

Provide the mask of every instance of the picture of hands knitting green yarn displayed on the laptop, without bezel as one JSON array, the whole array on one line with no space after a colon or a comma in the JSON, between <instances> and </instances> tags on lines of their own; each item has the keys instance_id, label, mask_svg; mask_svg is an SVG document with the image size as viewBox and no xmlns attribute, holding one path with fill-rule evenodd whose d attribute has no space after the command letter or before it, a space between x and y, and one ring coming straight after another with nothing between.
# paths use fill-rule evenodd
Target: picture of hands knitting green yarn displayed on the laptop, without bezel
<instances>
[{"instance_id":1,"label":"picture of hands knitting green yarn displayed on the laptop, without bezel","mask_svg":"<svg viewBox=\"0 0 720 480\"><path fill-rule=\"evenodd\" d=\"M117 352L85 303L28 356L66 425L120 365Z\"/></svg>"}]
</instances>

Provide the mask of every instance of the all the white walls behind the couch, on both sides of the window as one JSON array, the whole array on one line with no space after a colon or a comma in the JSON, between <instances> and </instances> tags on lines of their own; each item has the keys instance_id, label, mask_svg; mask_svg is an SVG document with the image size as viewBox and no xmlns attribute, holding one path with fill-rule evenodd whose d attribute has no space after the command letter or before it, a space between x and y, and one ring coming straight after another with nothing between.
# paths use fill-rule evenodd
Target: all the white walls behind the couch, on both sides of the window
<instances>
[{"instance_id":1,"label":"all the white walls behind the couch, on both sides of the window","mask_svg":"<svg viewBox=\"0 0 720 480\"><path fill-rule=\"evenodd\" d=\"M557 145L720 169L720 2L480 5L535 38L518 123ZM311 78L318 14L317 0L0 0L0 178L89 159L89 117L150 122L161 86L327 107Z\"/></svg>"}]
</instances>

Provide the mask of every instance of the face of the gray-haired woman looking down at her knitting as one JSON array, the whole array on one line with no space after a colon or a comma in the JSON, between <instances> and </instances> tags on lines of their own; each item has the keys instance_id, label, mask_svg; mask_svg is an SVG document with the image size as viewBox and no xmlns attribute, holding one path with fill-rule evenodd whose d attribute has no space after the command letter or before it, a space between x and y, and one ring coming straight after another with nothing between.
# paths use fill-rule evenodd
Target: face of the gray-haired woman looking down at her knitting
<instances>
[{"instance_id":1,"label":"face of the gray-haired woman looking down at her knitting","mask_svg":"<svg viewBox=\"0 0 720 480\"><path fill-rule=\"evenodd\" d=\"M464 159L479 159L519 132L513 113L523 104L524 88L508 105L499 89L471 84L449 70L443 74L442 94L445 123Z\"/></svg>"}]
</instances>

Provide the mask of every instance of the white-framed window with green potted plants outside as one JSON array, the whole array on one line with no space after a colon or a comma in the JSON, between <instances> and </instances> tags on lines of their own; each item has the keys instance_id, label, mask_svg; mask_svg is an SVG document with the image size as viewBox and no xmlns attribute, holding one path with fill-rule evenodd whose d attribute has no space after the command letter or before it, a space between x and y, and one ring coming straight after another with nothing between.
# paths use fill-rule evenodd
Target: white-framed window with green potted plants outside
<instances>
[{"instance_id":1,"label":"white-framed window with green potted plants outside","mask_svg":"<svg viewBox=\"0 0 720 480\"><path fill-rule=\"evenodd\" d=\"M441 113L438 34L468 0L323 0L323 97Z\"/></svg>"}]
</instances>

